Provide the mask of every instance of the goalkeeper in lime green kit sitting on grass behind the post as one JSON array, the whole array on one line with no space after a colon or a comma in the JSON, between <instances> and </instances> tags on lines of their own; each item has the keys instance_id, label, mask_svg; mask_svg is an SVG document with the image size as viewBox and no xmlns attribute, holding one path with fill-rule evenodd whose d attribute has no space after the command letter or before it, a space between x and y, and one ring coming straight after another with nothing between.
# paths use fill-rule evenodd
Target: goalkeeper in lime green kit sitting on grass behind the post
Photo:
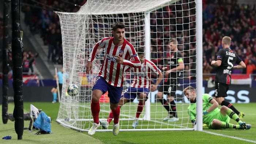
<instances>
[{"instance_id":1,"label":"goalkeeper in lime green kit sitting on grass behind the post","mask_svg":"<svg viewBox=\"0 0 256 144\"><path fill-rule=\"evenodd\" d=\"M185 96L189 99L188 114L191 122L196 122L196 90L189 86L183 90ZM242 122L238 115L226 106L218 108L219 104L209 94L203 94L203 123L208 125L209 129L250 129L251 125ZM229 123L230 118L237 121L238 124Z\"/></svg>"}]
</instances>

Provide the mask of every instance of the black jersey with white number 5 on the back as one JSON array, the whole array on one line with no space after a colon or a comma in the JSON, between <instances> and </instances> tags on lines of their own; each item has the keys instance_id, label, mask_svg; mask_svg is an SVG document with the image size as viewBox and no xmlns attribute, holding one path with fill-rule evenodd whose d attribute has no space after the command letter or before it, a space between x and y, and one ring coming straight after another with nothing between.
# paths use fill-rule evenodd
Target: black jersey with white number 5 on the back
<instances>
[{"instance_id":1,"label":"black jersey with white number 5 on the back","mask_svg":"<svg viewBox=\"0 0 256 144\"><path fill-rule=\"evenodd\" d=\"M232 69L242 61L241 58L233 50L223 48L219 50L217 60L221 60L221 65L216 69L215 82L230 84Z\"/></svg>"}]
</instances>

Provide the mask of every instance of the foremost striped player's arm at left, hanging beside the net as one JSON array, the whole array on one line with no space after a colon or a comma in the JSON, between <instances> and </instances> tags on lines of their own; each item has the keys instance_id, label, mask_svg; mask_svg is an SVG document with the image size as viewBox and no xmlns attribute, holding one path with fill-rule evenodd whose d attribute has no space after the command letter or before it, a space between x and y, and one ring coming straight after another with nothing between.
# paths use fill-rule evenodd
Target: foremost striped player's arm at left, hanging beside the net
<instances>
[{"instance_id":1,"label":"foremost striped player's arm at left, hanging beside the net","mask_svg":"<svg viewBox=\"0 0 256 144\"><path fill-rule=\"evenodd\" d=\"M86 73L89 74L89 72L91 71L91 68L93 68L93 60L96 57L96 54L99 52L99 50L105 45L105 40L107 38L103 38L101 39L99 42L96 43L96 45L94 46L93 50L90 53L88 62L86 64Z\"/></svg>"}]
</instances>

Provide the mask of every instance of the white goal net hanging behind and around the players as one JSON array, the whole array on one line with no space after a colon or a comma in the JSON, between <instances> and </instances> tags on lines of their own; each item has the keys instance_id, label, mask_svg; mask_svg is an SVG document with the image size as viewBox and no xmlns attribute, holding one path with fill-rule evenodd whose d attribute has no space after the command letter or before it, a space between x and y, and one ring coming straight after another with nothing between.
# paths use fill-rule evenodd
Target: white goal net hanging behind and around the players
<instances>
[{"instance_id":1,"label":"white goal net hanging behind and around the players","mask_svg":"<svg viewBox=\"0 0 256 144\"><path fill-rule=\"evenodd\" d=\"M150 92L140 114L138 127L133 128L138 107L138 99L126 103L120 110L120 130L192 130L187 107L188 99L182 90L195 86L196 73L196 4L195 0L87 0L76 13L56 12L60 18L63 44L63 88L57 121L69 128L88 131L93 123L91 115L92 87L105 57L101 49L93 61L93 73L86 75L85 66L94 45L104 37L112 37L112 25L122 22L125 25L125 38L136 50L144 49L144 56L163 71L164 65L172 65L169 41L177 39L178 52L185 65L178 71L174 96L178 121L164 121L168 112L157 99L157 91ZM166 71L166 69L165 69ZM150 75L155 83L158 75ZM164 75L164 73L163 73ZM124 92L137 73L124 73ZM69 96L67 87L76 84L79 94ZM169 90L172 91L172 90ZM175 91L174 91L175 92ZM167 96L164 95L166 99ZM169 101L167 99L167 101ZM107 94L100 99L100 120L108 118L109 98ZM99 127L99 131L111 131Z\"/></svg>"}]
</instances>

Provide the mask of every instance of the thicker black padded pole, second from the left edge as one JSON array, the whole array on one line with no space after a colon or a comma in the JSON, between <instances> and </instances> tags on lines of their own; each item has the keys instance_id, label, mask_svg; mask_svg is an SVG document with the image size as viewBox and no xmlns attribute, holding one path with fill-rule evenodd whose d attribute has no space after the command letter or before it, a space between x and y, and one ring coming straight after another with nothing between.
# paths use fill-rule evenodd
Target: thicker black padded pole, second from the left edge
<instances>
[{"instance_id":1,"label":"thicker black padded pole, second from the left edge","mask_svg":"<svg viewBox=\"0 0 256 144\"><path fill-rule=\"evenodd\" d=\"M20 4L19 0L11 0L12 9L12 64L15 132L18 140L22 140L24 128L23 88L22 88L22 41L20 39Z\"/></svg>"}]
</instances>

